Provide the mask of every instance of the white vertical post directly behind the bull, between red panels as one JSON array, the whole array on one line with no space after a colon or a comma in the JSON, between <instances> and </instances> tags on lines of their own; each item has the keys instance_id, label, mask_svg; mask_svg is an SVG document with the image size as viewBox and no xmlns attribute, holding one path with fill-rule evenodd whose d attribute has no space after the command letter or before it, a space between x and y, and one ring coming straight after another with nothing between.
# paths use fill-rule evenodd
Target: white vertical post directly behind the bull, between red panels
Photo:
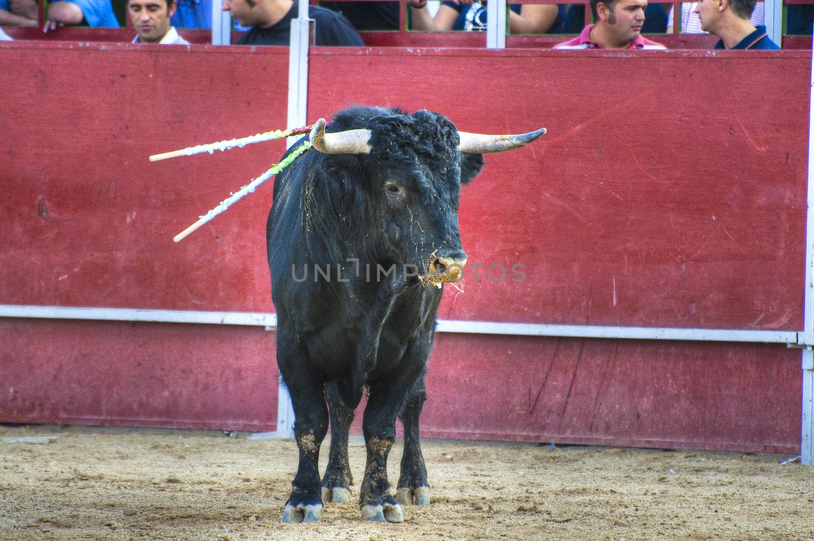
<instances>
[{"instance_id":1,"label":"white vertical post directly behind the bull, between red panels","mask_svg":"<svg viewBox=\"0 0 814 541\"><path fill-rule=\"evenodd\" d=\"M291 20L291 41L288 48L288 117L287 127L305 125L308 108L308 47L310 20L308 0L298 0L297 16ZM289 137L291 147L301 135ZM282 382L277 392L277 435L294 438L294 408L291 397Z\"/></svg>"}]
</instances>

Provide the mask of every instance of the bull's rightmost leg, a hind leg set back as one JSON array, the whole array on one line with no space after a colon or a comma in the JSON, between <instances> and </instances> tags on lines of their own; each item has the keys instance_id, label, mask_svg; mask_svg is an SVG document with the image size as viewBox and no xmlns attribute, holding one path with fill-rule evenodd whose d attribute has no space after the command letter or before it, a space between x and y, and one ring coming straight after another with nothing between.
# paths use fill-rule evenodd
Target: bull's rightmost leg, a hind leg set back
<instances>
[{"instance_id":1,"label":"bull's rightmost leg, a hind leg set back","mask_svg":"<svg viewBox=\"0 0 814 541\"><path fill-rule=\"evenodd\" d=\"M424 374L422 374L410 391L407 402L399 414L401 424L405 428L405 451L401 455L401 474L396 499L402 505L430 504L427 467L424 465L421 443L418 441L418 417L421 416L425 400L427 400L427 387L424 385Z\"/></svg>"}]
</instances>

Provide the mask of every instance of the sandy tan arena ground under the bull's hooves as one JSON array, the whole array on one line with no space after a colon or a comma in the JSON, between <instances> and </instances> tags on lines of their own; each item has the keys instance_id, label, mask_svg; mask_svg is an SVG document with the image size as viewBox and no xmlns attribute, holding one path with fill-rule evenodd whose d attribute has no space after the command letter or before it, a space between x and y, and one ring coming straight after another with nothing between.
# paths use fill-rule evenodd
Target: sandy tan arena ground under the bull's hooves
<instances>
[{"instance_id":1,"label":"sandy tan arena ground under the bull's hooves","mask_svg":"<svg viewBox=\"0 0 814 541\"><path fill-rule=\"evenodd\" d=\"M56 438L6 441L34 435ZM432 504L404 508L404 523L328 504L321 522L285 525L291 441L0 427L0 539L814 539L814 467L778 464L787 457L439 440L423 449ZM393 483L400 453L397 443ZM358 486L360 438L350 457Z\"/></svg>"}]
</instances>

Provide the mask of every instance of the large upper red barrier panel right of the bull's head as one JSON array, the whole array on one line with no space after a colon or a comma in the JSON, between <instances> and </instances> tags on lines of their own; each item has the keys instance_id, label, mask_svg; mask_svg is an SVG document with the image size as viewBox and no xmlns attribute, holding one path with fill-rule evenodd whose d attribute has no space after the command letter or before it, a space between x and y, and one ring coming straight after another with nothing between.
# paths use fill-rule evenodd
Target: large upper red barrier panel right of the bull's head
<instances>
[{"instance_id":1,"label":"large upper red barrier panel right of the bull's head","mask_svg":"<svg viewBox=\"0 0 814 541\"><path fill-rule=\"evenodd\" d=\"M484 267L442 318L802 328L807 55L584 53L325 51L309 114L355 101L548 128L465 188L463 245ZM522 283L484 276L515 264Z\"/></svg>"}]
</instances>

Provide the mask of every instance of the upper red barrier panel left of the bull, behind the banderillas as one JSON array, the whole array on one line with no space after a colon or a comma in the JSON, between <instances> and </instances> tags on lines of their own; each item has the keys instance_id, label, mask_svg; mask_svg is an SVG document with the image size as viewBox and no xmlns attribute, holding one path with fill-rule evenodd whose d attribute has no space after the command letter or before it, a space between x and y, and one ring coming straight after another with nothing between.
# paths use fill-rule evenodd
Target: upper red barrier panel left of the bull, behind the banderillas
<instances>
[{"instance_id":1,"label":"upper red barrier panel left of the bull, behind the banderillas","mask_svg":"<svg viewBox=\"0 0 814 541\"><path fill-rule=\"evenodd\" d=\"M182 243L173 236L269 169L284 143L147 157L285 128L287 51L171 49L0 50L5 73L19 73L0 90L11 104L0 126L0 214L14 231L0 244L0 302L271 310L270 182ZM42 68L17 68L26 65Z\"/></svg>"}]
</instances>

